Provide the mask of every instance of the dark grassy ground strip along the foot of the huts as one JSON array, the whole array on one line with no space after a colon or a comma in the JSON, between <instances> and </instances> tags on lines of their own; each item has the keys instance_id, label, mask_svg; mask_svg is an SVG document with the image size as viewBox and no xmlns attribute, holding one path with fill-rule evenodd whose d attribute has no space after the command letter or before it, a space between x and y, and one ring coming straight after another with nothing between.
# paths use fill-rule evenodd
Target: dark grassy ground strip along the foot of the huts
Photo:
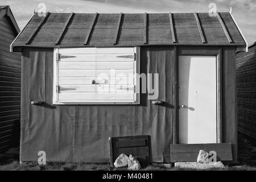
<instances>
[{"instance_id":1,"label":"dark grassy ground strip along the foot of the huts","mask_svg":"<svg viewBox=\"0 0 256 182\"><path fill-rule=\"evenodd\" d=\"M238 134L238 160L240 166L225 166L225 168L208 168L204 171L256 171L256 141ZM99 163L63 163L48 162L39 165L37 162L19 163L19 148L11 148L5 154L0 154L0 171L118 171L127 168L111 168L109 164ZM163 164L152 164L142 171L195 171L193 168L167 168ZM199 169L198 169L199 170ZM200 170L201 171L201 170Z\"/></svg>"}]
</instances>

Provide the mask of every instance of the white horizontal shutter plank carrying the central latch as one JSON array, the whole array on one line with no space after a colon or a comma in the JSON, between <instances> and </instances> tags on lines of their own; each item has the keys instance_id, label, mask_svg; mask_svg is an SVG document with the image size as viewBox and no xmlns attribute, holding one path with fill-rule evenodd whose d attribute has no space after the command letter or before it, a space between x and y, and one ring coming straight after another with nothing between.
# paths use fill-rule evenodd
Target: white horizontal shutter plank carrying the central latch
<instances>
[{"instance_id":1,"label":"white horizontal shutter plank carrying the central latch","mask_svg":"<svg viewBox=\"0 0 256 182\"><path fill-rule=\"evenodd\" d=\"M96 81L96 84L101 85L120 85L134 84L134 78L109 78L109 77L59 77L59 84L61 85L92 85L92 80Z\"/></svg>"}]
</instances>

